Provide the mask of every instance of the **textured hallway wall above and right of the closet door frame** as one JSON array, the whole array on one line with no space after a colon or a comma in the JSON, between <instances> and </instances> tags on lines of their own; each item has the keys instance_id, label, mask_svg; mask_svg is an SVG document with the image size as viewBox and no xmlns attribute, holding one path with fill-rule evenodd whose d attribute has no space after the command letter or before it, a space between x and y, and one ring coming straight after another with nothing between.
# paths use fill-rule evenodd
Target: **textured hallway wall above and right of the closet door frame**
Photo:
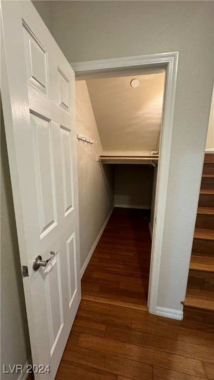
<instances>
[{"instance_id":1,"label":"textured hallway wall above and right of the closet door frame","mask_svg":"<svg viewBox=\"0 0 214 380\"><path fill-rule=\"evenodd\" d=\"M213 1L54 1L69 62L179 50L158 306L182 310L213 91Z\"/></svg>"}]
</instances>

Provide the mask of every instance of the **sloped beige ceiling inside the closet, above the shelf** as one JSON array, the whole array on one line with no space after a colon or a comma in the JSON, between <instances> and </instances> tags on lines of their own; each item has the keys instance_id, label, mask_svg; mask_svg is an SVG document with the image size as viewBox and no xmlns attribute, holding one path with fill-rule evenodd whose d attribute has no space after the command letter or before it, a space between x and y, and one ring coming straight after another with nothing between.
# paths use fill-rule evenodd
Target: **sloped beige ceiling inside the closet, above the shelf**
<instances>
[{"instance_id":1,"label":"sloped beige ceiling inside the closet, above the shelf","mask_svg":"<svg viewBox=\"0 0 214 380\"><path fill-rule=\"evenodd\" d=\"M106 154L149 154L157 149L165 73L87 80ZM138 88L130 82L137 78Z\"/></svg>"}]
</instances>

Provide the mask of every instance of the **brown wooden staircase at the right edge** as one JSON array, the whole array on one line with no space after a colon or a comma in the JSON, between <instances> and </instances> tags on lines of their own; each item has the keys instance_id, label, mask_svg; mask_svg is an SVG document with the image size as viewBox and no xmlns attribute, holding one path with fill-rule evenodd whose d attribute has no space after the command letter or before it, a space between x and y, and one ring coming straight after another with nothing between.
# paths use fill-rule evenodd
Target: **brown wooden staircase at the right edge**
<instances>
[{"instance_id":1,"label":"brown wooden staircase at the right edge","mask_svg":"<svg viewBox=\"0 0 214 380\"><path fill-rule=\"evenodd\" d=\"M206 153L184 304L214 311L214 154Z\"/></svg>"}]
</instances>

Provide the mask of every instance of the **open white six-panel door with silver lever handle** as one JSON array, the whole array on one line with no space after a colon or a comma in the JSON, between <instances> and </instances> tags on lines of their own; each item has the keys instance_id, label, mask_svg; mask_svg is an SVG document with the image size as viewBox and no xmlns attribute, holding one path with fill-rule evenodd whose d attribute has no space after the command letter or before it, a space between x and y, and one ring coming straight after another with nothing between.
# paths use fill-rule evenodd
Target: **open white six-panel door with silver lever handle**
<instances>
[{"instance_id":1,"label":"open white six-panel door with silver lever handle","mask_svg":"<svg viewBox=\"0 0 214 380\"><path fill-rule=\"evenodd\" d=\"M30 1L3 0L1 11L1 93L32 357L51 370L35 378L54 380L81 298L75 78ZM38 255L51 260L35 271Z\"/></svg>"}]
</instances>

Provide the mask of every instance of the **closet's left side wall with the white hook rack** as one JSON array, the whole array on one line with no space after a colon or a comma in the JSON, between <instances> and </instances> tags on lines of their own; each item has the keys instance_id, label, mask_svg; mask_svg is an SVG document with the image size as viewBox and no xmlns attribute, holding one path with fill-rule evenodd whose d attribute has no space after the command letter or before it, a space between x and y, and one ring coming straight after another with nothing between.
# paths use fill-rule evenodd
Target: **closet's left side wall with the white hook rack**
<instances>
[{"instance_id":1,"label":"closet's left side wall with the white hook rack","mask_svg":"<svg viewBox=\"0 0 214 380\"><path fill-rule=\"evenodd\" d=\"M82 268L113 207L114 181L113 167L97 161L103 148L85 81L76 82L76 126L77 134L97 141L77 143Z\"/></svg>"}]
</instances>

